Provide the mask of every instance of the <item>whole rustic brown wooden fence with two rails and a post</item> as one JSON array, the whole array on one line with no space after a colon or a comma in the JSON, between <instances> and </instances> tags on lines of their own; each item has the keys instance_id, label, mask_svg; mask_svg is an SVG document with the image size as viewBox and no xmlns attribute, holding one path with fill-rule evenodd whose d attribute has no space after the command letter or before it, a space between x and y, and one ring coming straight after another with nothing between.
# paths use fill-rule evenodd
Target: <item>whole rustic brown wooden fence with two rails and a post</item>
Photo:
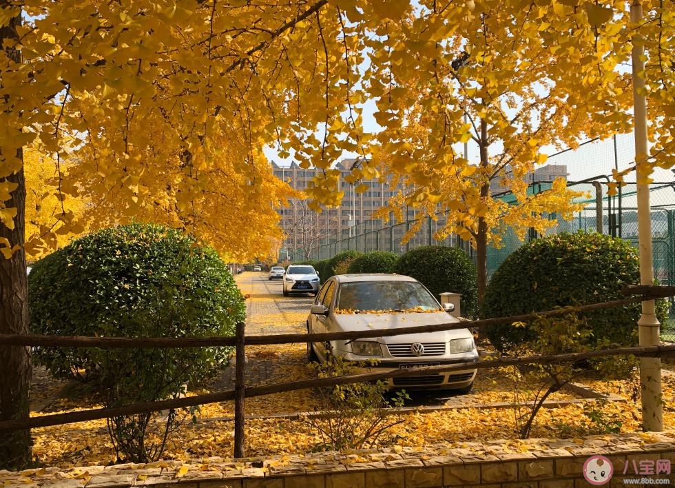
<instances>
[{"instance_id":1,"label":"whole rustic brown wooden fence with two rails and a post","mask_svg":"<svg viewBox=\"0 0 675 488\"><path fill-rule=\"evenodd\" d=\"M419 334L422 332L439 332L453 329L466 329L466 327L479 327L481 325L506 325L514 322L529 322L541 317L553 317L570 314L572 312L588 312L591 310L605 309L665 298L675 295L675 287L646 287L641 285L624 285L621 292L625 295L639 294L634 298L623 298L593 305L569 307L565 309L549 310L538 314L520 316L490 318L479 321L445 323L437 325L420 325L417 327L402 327L399 329L375 329L357 332L337 332L327 334L279 334L273 336L248 336L244 334L245 326L238 323L235 337L199 337L199 338L121 338L121 337L64 337L64 336L35 336L35 335L0 335L0 344L3 346L45 346L45 347L102 347L102 348L147 348L147 347L236 347L236 374L235 389L225 392L176 398L173 400L160 400L149 403L125 405L123 407L107 407L101 409L88 409L83 411L69 412L66 414L53 414L33 417L23 420L9 420L0 422L0 432L19 431L48 427L51 425L63 425L67 423L98 420L116 416L143 414L152 411L194 407L207 403L217 403L227 400L235 400L235 448L234 457L244 457L244 405L245 397L263 396L279 392L289 392L299 389L315 387L331 387L348 383L362 383L365 381L384 380L387 378L400 378L407 376L423 376L450 372L457 369L483 369L490 367L519 366L528 364L549 364L575 361L588 358L606 356L633 355L637 357L663 357L674 356L675 345L649 346L649 347L623 347L616 349L601 349L582 353L557 354L554 356L526 356L521 358L509 358L503 360L473 361L471 363L458 363L450 365L428 366L408 369L389 369L385 372L353 374L330 378L316 378L311 380L293 381L289 383L275 383L262 387L245 388L245 346L247 345L273 345L289 343L326 342L329 340L356 340L362 338L378 338L401 336L406 334Z\"/></svg>"}]
</instances>

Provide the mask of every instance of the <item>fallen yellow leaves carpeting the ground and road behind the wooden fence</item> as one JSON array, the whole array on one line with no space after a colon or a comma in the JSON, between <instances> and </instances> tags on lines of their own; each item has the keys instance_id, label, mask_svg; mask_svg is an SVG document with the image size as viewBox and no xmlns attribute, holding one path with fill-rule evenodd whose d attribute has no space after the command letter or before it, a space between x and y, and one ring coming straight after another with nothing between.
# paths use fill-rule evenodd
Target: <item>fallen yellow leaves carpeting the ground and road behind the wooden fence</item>
<instances>
[{"instance_id":1,"label":"fallen yellow leaves carpeting the ground and road behind the wooden fence","mask_svg":"<svg viewBox=\"0 0 675 488\"><path fill-rule=\"evenodd\" d=\"M241 276L241 275L240 275ZM246 291L262 291L263 286L248 285ZM259 288L259 289L258 289ZM251 301L279 301L279 296L256 296ZM304 329L307 310L284 311L278 314L264 314L249 317L252 329ZM307 368L306 346L304 344L247 347L249 358L272 360L275 369L271 378L260 383L279 383L312 378ZM637 373L636 373L637 374ZM627 403L610 402L603 409L605 416L616 415L621 421L622 432L634 432L640 423L640 405L632 401L632 392L636 378L630 380L601 381L583 378L584 383L598 391L615 394L627 399ZM534 385L541 387L541 385ZM209 391L211 385L199 385L199 389L188 395ZM513 401L516 385L498 370L479 370L474 389L468 396L459 397L464 403L510 403ZM519 391L520 398L526 396ZM675 378L664 376L663 397L668 400L675 396ZM272 414L307 412L321 409L319 396L312 390L282 392L264 397L246 400L247 415L269 416ZM550 396L550 400L579 398L568 391ZM583 403L575 403L557 409L541 409L537 416L535 437L572 437L579 435L583 423L588 423L584 415ZM79 400L60 399L50 408L50 413L78 411L98 407L95 398ZM198 418L205 420L233 415L234 403L223 402L203 405ZM39 416L42 414L32 414ZM517 443L517 424L513 408L478 409L456 408L420 414L417 411L402 414L403 423L395 425L389 431L389 440L395 445L421 447L432 443L485 442L487 440L509 439ZM105 420L94 420L56 427L34 429L33 453L46 465L72 467L84 465L105 465L114 462L115 454L110 437L103 431ZM667 431L675 432L675 411L665 408L664 425ZM156 424L154 427L160 427ZM158 430L157 430L158 431ZM150 441L158 440L158 434L150 434ZM272 454L292 454L311 451L321 443L321 438L311 431L303 420L282 420L278 418L252 419L246 422L247 456L270 456ZM233 455L234 423L229 420L183 424L172 437L163 458L190 460L208 456L229 457Z\"/></svg>"}]
</instances>

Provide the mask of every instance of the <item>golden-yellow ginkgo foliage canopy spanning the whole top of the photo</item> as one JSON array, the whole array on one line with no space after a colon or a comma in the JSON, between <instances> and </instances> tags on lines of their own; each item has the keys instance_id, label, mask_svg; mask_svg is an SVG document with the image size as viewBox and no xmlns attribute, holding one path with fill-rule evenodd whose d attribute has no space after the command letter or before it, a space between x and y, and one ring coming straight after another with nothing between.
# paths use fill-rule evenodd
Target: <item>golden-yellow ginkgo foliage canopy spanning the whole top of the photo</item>
<instances>
[{"instance_id":1,"label":"golden-yellow ginkgo foliage canopy spanning the whole top of the photo","mask_svg":"<svg viewBox=\"0 0 675 488\"><path fill-rule=\"evenodd\" d=\"M262 155L274 145L319 169L307 190L315 210L340 203L332 165L357 153L364 163L348 181L405 173L416 185L408 203L441 203L459 222L444 232L477 235L480 218L501 212L481 190L486 181L508 181L527 200L517 181L543 161L543 145L630 130L621 64L638 37L654 142L641 179L672 161L672 2L645 4L639 26L619 1L2 7L0 201L17 185L8 177L23 165L18 150L33 143L56 161L52 194L92 199L84 221L94 227L111 214L154 220L238 257L264 254L278 237L273 206L290 192ZM368 99L380 134L364 132ZM471 138L486 148L479 167L457 152ZM62 170L71 159L78 163ZM3 225L15 215L0 204ZM82 230L72 210L54 217L56 226L26 243L29 253L48 249L56 230Z\"/></svg>"}]
</instances>

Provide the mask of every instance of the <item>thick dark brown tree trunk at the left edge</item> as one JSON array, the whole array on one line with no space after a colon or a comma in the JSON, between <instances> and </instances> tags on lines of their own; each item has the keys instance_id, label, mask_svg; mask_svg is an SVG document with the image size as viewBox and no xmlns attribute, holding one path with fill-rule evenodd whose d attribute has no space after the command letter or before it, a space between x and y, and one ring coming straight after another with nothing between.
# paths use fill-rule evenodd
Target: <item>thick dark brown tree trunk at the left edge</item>
<instances>
[{"instance_id":1,"label":"thick dark brown tree trunk at the left edge","mask_svg":"<svg viewBox=\"0 0 675 488\"><path fill-rule=\"evenodd\" d=\"M0 8L8 6L7 0L0 0ZM18 39L17 26L21 25L21 12L10 19L8 26L0 28L0 42ZM21 52L6 48L7 56L15 63L21 63ZM1 79L1 72L0 72ZM5 101L7 103L7 100ZM5 148L0 148L0 152ZM9 149L5 149L8 151ZM23 160L23 150L17 151ZM11 192L11 199L5 204L16 207L14 229L0 224L0 236L10 241L10 247L20 245L21 249L6 259L0 256L0 334L28 334L28 275L25 269L25 178L23 169L11 174L6 181L19 186ZM30 347L0 345L0 421L23 420L29 416L28 391L32 377ZM17 469L30 462L30 430L0 434L0 469Z\"/></svg>"}]
</instances>

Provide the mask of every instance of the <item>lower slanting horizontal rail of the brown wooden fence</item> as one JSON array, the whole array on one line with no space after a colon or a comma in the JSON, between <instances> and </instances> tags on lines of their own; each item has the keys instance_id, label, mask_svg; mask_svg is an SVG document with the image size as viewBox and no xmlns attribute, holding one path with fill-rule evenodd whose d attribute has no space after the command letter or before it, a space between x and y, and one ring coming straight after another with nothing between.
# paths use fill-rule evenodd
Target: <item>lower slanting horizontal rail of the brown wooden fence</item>
<instances>
[{"instance_id":1,"label":"lower slanting horizontal rail of the brown wooden fence","mask_svg":"<svg viewBox=\"0 0 675 488\"><path fill-rule=\"evenodd\" d=\"M570 354L557 354L552 356L526 356L523 358L511 358L501 360L479 360L479 361L472 361L471 363L428 366L413 369L388 369L385 372L351 374L346 376L291 381L289 383L275 383L274 385L246 388L245 395L247 398L250 398L252 396L264 396L280 392L292 392L298 389L331 387L334 385L345 385L347 383L362 383L365 381L385 380L387 378L424 376L427 374L437 374L464 369L483 369L490 367L521 366L528 364L563 363L565 361L576 361L581 359L601 358L607 356L627 356L630 354L638 357L670 356L675 354L675 345L622 347L619 349L603 349L600 351L576 352ZM216 403L216 402L224 402L227 400L233 400L234 398L235 398L234 390L228 390L227 392L211 393L207 395L198 395L198 396L188 396L185 398L177 398L176 400L161 400L158 402L138 403L136 405L126 405L125 407L112 407L112 408L91 409L84 411L74 411L69 412L67 414L54 414L40 417L32 417L26 420L8 420L6 422L0 422L0 432L36 429L38 427L49 427L50 425L62 425L74 422L85 422L88 420L98 420L101 418L110 418L123 415L145 414L152 411L194 407L196 405L205 405L207 403Z\"/></svg>"}]
</instances>

